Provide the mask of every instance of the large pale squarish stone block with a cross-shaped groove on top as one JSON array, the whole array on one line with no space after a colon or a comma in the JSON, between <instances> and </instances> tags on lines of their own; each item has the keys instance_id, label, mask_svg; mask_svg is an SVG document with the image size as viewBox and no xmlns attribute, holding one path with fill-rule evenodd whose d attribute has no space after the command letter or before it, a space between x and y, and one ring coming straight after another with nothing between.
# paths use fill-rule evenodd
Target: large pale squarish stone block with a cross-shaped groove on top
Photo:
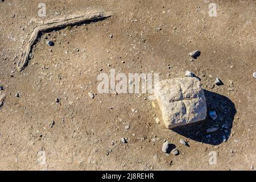
<instances>
[{"instance_id":1,"label":"large pale squarish stone block with a cross-shaped groove on top","mask_svg":"<svg viewBox=\"0 0 256 182\"><path fill-rule=\"evenodd\" d=\"M160 81L155 85L155 97L168 129L204 120L207 115L204 90L195 77Z\"/></svg>"}]
</instances>

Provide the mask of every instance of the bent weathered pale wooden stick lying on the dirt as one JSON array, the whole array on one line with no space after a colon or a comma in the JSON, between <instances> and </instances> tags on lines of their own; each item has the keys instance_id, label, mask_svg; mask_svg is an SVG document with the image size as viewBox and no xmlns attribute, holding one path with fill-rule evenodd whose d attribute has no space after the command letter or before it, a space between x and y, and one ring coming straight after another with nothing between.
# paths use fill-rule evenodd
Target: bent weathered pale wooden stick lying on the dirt
<instances>
[{"instance_id":1,"label":"bent weathered pale wooden stick lying on the dirt","mask_svg":"<svg viewBox=\"0 0 256 182\"><path fill-rule=\"evenodd\" d=\"M73 15L64 16L61 18L55 18L43 22L38 27L34 28L30 39L28 40L27 48L20 56L17 64L18 71L22 71L28 64L32 46L36 43L39 33L54 30L56 28L63 28L66 26L72 26L86 21L92 21L95 19L108 18L111 13L105 13L104 11L87 11L86 13L78 13Z\"/></svg>"}]
</instances>

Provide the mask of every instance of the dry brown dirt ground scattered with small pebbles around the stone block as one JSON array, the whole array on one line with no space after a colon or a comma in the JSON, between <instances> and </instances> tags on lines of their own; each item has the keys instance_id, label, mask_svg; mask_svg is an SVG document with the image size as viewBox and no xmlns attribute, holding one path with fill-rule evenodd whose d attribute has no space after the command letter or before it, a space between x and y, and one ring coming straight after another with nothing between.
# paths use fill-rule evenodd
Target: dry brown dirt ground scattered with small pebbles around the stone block
<instances>
[{"instance_id":1,"label":"dry brown dirt ground scattered with small pebbles around the stone block","mask_svg":"<svg viewBox=\"0 0 256 182\"><path fill-rule=\"evenodd\" d=\"M208 14L210 2L0 2L0 169L255 169L256 1L212 1L216 17ZM16 70L36 24L88 9L113 16L42 35L28 66ZM188 53L195 49L201 55L191 61ZM97 76L112 68L160 73L160 80L189 70L201 79L208 111L216 110L218 118L166 129L148 94L97 93ZM216 77L224 85L213 86ZM213 126L219 129L205 132ZM164 140L180 154L162 152ZM217 163L209 164L214 152Z\"/></svg>"}]
</instances>

